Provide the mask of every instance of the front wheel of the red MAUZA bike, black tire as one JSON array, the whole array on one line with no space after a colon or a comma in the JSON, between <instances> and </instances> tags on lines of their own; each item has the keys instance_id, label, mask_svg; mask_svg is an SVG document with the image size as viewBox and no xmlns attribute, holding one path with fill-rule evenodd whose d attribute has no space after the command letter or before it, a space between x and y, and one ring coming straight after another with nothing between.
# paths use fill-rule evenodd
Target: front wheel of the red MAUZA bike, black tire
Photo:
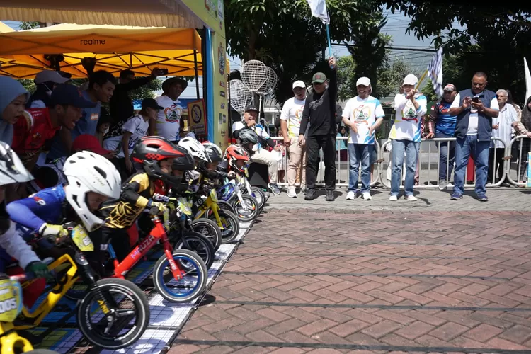
<instances>
[{"instance_id":1,"label":"front wheel of the red MAUZA bike, black tire","mask_svg":"<svg viewBox=\"0 0 531 354\"><path fill-rule=\"evenodd\" d=\"M192 251L187 249L176 249L173 251L173 260L182 264L183 261L188 263L193 263L195 265L195 275L187 276L183 282L186 284L186 280L194 281L195 285L190 292L183 295L177 295L175 292L172 292L167 282L173 281L173 274L171 272L166 273L166 268L169 268L169 261L166 258L166 255L161 256L159 261L156 261L155 267L153 268L153 283L156 290L159 294L164 297L164 299L169 302L175 302L178 304L183 304L185 302L192 302L194 299L199 297L202 292L207 287L208 280L208 270L205 265L205 262L202 261L201 257Z\"/></svg>"}]
</instances>

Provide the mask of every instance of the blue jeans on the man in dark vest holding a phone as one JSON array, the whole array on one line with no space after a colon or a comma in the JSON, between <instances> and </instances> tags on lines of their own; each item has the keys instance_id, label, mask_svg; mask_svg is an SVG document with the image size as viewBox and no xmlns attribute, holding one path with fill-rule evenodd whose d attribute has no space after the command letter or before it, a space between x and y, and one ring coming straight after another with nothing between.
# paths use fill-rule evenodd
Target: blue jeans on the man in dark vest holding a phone
<instances>
[{"instance_id":1,"label":"blue jeans on the man in dark vest holding a phone","mask_svg":"<svg viewBox=\"0 0 531 354\"><path fill-rule=\"evenodd\" d=\"M467 135L455 141L454 193L464 193L464 173L467 171L468 158L474 156L476 164L476 195L486 193L485 185L489 173L489 147L491 142L479 142L477 135Z\"/></svg>"}]
</instances>

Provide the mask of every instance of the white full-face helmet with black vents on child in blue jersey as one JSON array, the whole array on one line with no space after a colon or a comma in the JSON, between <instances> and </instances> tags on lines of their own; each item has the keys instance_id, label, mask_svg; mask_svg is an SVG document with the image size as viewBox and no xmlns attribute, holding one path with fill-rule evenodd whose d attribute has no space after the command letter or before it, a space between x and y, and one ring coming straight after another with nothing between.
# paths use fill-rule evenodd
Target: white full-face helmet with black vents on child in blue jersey
<instances>
[{"instance_id":1,"label":"white full-face helmet with black vents on child in blue jersey","mask_svg":"<svg viewBox=\"0 0 531 354\"><path fill-rule=\"evenodd\" d=\"M68 186L65 188L67 200L86 227L91 232L105 224L91 212L86 204L86 193L94 192L109 198L120 198L122 178L115 166L105 157L93 152L76 152L64 163L64 175Z\"/></svg>"}]
</instances>

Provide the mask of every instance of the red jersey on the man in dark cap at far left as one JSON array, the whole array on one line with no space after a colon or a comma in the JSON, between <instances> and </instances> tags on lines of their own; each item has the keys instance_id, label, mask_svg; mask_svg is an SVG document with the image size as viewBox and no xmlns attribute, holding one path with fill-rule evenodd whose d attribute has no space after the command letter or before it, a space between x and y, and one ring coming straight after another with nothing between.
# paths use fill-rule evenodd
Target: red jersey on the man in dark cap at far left
<instances>
[{"instance_id":1,"label":"red jersey on the man in dark cap at far left","mask_svg":"<svg viewBox=\"0 0 531 354\"><path fill-rule=\"evenodd\" d=\"M48 108L31 108L25 110L13 125L13 143L11 148L27 164L33 156L50 150L52 138L61 127L54 127L50 122Z\"/></svg>"}]
</instances>

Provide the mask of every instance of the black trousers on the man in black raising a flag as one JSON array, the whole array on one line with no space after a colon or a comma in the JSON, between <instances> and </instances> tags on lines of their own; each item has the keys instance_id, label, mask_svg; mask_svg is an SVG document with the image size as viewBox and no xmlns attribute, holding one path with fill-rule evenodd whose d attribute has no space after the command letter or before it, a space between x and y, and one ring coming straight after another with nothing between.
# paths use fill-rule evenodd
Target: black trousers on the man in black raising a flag
<instances>
[{"instance_id":1,"label":"black trousers on the man in black raising a flag","mask_svg":"<svg viewBox=\"0 0 531 354\"><path fill-rule=\"evenodd\" d=\"M319 171L319 150L323 149L324 183L327 190L336 188L336 136L313 135L306 139L306 188L314 189Z\"/></svg>"}]
</instances>

